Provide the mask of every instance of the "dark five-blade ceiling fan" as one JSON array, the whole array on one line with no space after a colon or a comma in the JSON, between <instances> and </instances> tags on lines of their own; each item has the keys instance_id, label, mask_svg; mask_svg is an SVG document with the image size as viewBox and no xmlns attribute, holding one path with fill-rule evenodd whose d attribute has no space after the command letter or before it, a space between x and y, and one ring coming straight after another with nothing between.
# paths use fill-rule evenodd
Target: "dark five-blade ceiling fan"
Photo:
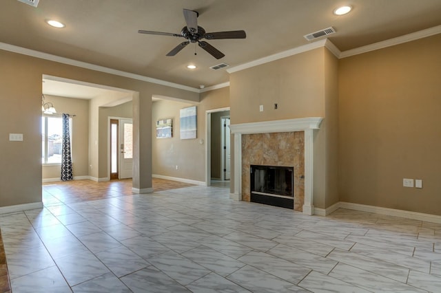
<instances>
[{"instance_id":1,"label":"dark five-blade ceiling fan","mask_svg":"<svg viewBox=\"0 0 441 293\"><path fill-rule=\"evenodd\" d=\"M207 40L220 40L220 39L245 39L247 34L244 30L232 30L229 32L205 32L205 30L198 25L198 12L193 10L184 9L184 18L187 26L183 27L180 34L173 34L171 32L152 32L150 30L139 30L140 34L156 34L161 36L177 36L187 39L187 41L180 43L170 52L167 56L174 56L178 54L185 46L189 43L198 43L199 47L207 51L214 58L220 59L225 54L217 50L215 47L207 43L206 41L201 41L201 39ZM195 53L196 54L196 53Z\"/></svg>"}]
</instances>

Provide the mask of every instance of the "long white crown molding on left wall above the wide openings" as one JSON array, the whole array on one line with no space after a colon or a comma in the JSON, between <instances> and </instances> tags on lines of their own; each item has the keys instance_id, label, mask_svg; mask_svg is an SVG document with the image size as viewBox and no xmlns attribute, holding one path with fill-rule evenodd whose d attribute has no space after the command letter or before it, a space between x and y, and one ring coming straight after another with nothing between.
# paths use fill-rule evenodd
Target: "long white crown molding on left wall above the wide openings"
<instances>
[{"instance_id":1,"label":"long white crown molding on left wall above the wide openings","mask_svg":"<svg viewBox=\"0 0 441 293\"><path fill-rule=\"evenodd\" d=\"M9 51L9 52L32 56L35 58L45 59L48 61L54 61L54 62L58 62L58 63L63 63L63 64L67 64L67 65L85 68L85 69L91 69L91 70L95 70L97 72L104 72L107 74L114 74L117 76L123 76L123 77L132 78L132 79L136 79L136 80L141 80L141 81L145 81L147 83L155 83L156 85L165 85L166 87L174 87L176 89L183 89L185 91L193 91L195 93L200 92L199 89L196 89L194 87L188 87L187 85L179 85L178 83L170 83L169 81L165 81L165 80L161 80L161 79L151 78L148 76L142 76L139 74L132 74L130 72L123 72L121 70L112 69L109 67L103 67L100 65L92 64L92 63L76 61L74 59L65 58L65 57L52 55L52 54L48 54L48 53L43 53L43 52L39 52L39 51L35 51L35 50L30 50L30 49L26 49L23 47L10 45L7 43L0 42L0 50L5 50L5 51Z\"/></svg>"}]
</instances>

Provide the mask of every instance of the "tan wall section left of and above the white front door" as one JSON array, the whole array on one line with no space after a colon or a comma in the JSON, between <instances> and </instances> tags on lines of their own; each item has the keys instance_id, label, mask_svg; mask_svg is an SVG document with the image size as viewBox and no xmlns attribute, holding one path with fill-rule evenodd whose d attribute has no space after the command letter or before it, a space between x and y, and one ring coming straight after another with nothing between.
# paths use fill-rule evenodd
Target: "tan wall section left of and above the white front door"
<instances>
[{"instance_id":1,"label":"tan wall section left of and above the white front door","mask_svg":"<svg viewBox=\"0 0 441 293\"><path fill-rule=\"evenodd\" d=\"M109 142L109 117L130 118L133 115L132 102L125 102L115 107L99 108L99 178L109 178L110 173L107 169L108 153L107 145Z\"/></svg>"}]
</instances>

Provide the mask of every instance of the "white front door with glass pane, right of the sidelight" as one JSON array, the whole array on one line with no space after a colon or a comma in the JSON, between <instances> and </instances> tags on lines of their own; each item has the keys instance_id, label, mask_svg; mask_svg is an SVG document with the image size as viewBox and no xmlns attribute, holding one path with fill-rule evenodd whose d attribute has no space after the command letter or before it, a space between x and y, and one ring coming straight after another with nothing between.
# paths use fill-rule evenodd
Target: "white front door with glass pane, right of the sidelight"
<instances>
[{"instance_id":1,"label":"white front door with glass pane, right of the sidelight","mask_svg":"<svg viewBox=\"0 0 441 293\"><path fill-rule=\"evenodd\" d=\"M119 120L119 179L132 178L133 170L133 123L129 119Z\"/></svg>"}]
</instances>

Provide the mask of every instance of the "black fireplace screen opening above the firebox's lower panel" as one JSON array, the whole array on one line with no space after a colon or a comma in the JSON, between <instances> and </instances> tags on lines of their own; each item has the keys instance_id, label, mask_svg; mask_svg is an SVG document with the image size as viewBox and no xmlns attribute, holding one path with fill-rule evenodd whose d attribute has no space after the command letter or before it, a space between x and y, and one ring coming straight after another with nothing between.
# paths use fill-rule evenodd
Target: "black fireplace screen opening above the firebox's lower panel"
<instances>
[{"instance_id":1,"label":"black fireplace screen opening above the firebox's lower panel","mask_svg":"<svg viewBox=\"0 0 441 293\"><path fill-rule=\"evenodd\" d=\"M294 197L294 168L251 165L251 192Z\"/></svg>"}]
</instances>

